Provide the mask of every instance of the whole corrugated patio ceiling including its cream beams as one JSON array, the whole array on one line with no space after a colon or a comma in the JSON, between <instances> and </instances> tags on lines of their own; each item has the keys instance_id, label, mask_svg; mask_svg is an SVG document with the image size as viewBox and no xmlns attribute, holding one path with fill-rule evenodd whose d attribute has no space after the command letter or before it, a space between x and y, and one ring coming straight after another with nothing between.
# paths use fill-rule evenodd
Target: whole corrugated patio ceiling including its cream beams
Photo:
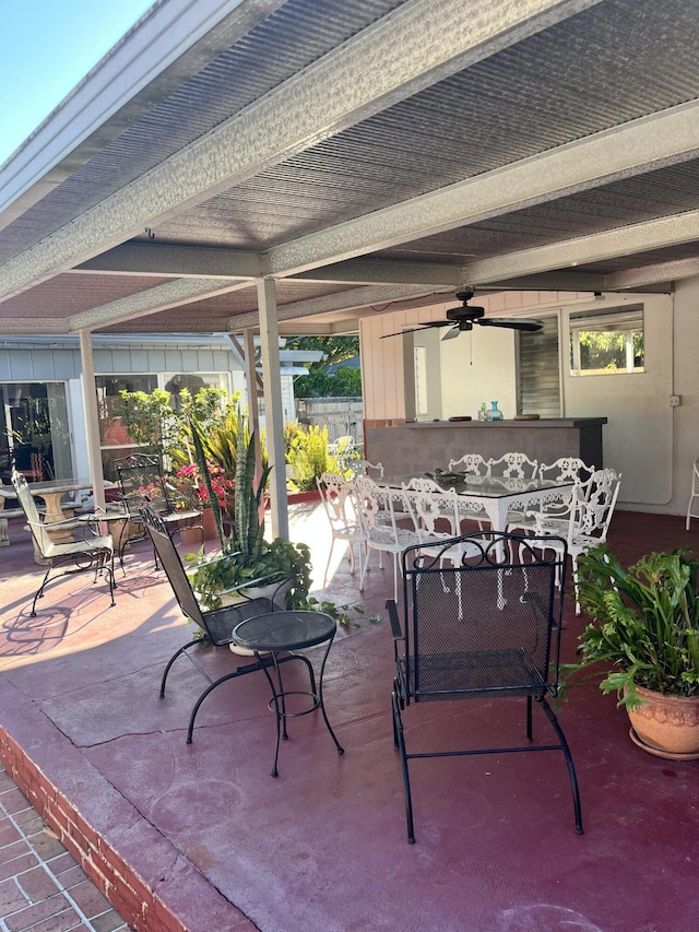
<instances>
[{"instance_id":1,"label":"whole corrugated patio ceiling including its cream beams","mask_svg":"<svg viewBox=\"0 0 699 932\"><path fill-rule=\"evenodd\" d=\"M44 305L51 332L251 326L269 275L306 328L696 274L699 0L197 5L211 26L0 217L5 332Z\"/></svg>"}]
</instances>

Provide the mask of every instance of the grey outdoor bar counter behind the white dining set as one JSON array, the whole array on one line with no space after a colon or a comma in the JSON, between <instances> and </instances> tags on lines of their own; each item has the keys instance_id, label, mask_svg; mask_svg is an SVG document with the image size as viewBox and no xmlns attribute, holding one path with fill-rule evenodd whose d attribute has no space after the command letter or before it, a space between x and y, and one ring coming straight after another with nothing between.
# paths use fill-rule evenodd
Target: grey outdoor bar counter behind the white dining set
<instances>
[{"instance_id":1,"label":"grey outdoor bar counter behind the white dining set","mask_svg":"<svg viewBox=\"0 0 699 932\"><path fill-rule=\"evenodd\" d=\"M446 469L464 453L498 458L517 450L554 462L580 457L600 469L606 417L542 417L538 421L416 421L391 426L365 425L366 457L383 464L386 475Z\"/></svg>"}]
</instances>

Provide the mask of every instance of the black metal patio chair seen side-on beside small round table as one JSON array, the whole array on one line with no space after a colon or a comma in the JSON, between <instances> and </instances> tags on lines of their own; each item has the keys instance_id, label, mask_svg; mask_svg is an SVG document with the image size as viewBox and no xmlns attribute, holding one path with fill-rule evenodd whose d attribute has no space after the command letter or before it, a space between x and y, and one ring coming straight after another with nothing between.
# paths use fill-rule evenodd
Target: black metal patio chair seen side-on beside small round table
<instances>
[{"instance_id":1,"label":"black metal patio chair seen side-on beside small round table","mask_svg":"<svg viewBox=\"0 0 699 932\"><path fill-rule=\"evenodd\" d=\"M197 718L197 713L202 703L210 693L228 680L235 680L237 676L242 676L246 673L253 673L258 670L263 670L266 665L271 665L273 663L272 658L261 656L253 662L237 666L235 670L224 673L223 676L218 676L214 680L197 658L197 652L198 649L201 649L202 641L208 640L213 645L213 647L230 647L230 645L235 642L233 630L236 625L240 624L240 622L246 622L250 618L257 617L258 615L265 615L270 612L281 611L286 607L285 597L292 587L292 580L283 577L282 574L277 574L274 578L270 577L268 580L252 580L251 587L259 587L264 581L270 583L274 582L275 586L271 595L269 598L249 598L246 595L246 588L240 587L235 590L236 594L241 599L240 602L234 605L214 609L212 611L203 611L197 601L189 577L185 571L180 556L173 543L173 539L167 526L163 521L163 518L153 508L145 506L141 509L141 519L151 541L153 542L155 552L161 561L169 583L173 587L173 591L177 598L180 609L200 629L198 637L194 637L187 644L182 645L182 647L178 648L178 650L176 650L170 657L161 680L161 698L164 698L168 673L177 658L183 654L209 683L206 688L194 703L194 707L189 717L187 743L191 744L194 719ZM233 659L233 653L229 656ZM311 681L311 691L315 692L315 674L310 661L303 654L292 652L276 657L277 664L284 663L288 660L300 660L306 664Z\"/></svg>"}]
</instances>

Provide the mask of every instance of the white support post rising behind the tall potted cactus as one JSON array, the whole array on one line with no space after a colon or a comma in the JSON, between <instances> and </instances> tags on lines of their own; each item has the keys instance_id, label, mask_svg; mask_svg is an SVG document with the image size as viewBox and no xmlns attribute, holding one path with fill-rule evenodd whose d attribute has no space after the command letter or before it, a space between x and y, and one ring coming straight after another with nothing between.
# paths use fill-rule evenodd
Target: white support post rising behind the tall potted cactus
<instances>
[{"instance_id":1,"label":"white support post rising behind the tall potted cactus","mask_svg":"<svg viewBox=\"0 0 699 932\"><path fill-rule=\"evenodd\" d=\"M264 422L270 465L270 505L272 534L288 540L288 505L286 499L286 461L284 457L284 409L282 405L282 374L280 334L276 320L276 288L274 279L258 282L260 310L260 342L264 387Z\"/></svg>"}]
</instances>

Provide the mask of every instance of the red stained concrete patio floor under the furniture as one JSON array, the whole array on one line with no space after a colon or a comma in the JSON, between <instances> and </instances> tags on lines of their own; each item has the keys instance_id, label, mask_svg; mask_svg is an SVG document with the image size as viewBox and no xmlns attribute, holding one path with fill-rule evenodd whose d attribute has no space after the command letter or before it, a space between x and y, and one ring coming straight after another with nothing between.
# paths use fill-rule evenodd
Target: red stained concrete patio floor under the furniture
<instances>
[{"instance_id":1,"label":"red stained concrete patio floor under the furniture","mask_svg":"<svg viewBox=\"0 0 699 932\"><path fill-rule=\"evenodd\" d=\"M609 540L632 562L650 550L696 547L696 528L686 532L678 517L618 511ZM330 536L320 508L294 506L293 529L312 546L322 576ZM383 614L378 625L365 620L342 632L330 653L325 703L344 756L320 716L293 719L273 779L274 721L262 675L214 692L191 745L186 728L201 676L178 661L158 699L165 662L191 629L145 544L127 553L126 577L117 571L116 607L84 574L49 587L32 618L42 570L20 523L10 539L0 550L0 752L16 742L181 928L699 928L699 762L662 760L636 747L625 713L595 686L574 689L559 713L578 769L583 836L574 834L562 755L493 755L415 764L417 842L406 843L383 611L390 563L381 571L372 557L360 595L345 558L327 589ZM567 600L564 659L583 625ZM204 660L218 673L237 662L211 649ZM303 683L295 665L285 669L289 687ZM496 730L505 741L523 736L521 700L410 712L416 732L420 722L436 724L447 743L487 742ZM534 736L549 740L541 713ZM134 927L161 928L134 910L122 912Z\"/></svg>"}]
</instances>

